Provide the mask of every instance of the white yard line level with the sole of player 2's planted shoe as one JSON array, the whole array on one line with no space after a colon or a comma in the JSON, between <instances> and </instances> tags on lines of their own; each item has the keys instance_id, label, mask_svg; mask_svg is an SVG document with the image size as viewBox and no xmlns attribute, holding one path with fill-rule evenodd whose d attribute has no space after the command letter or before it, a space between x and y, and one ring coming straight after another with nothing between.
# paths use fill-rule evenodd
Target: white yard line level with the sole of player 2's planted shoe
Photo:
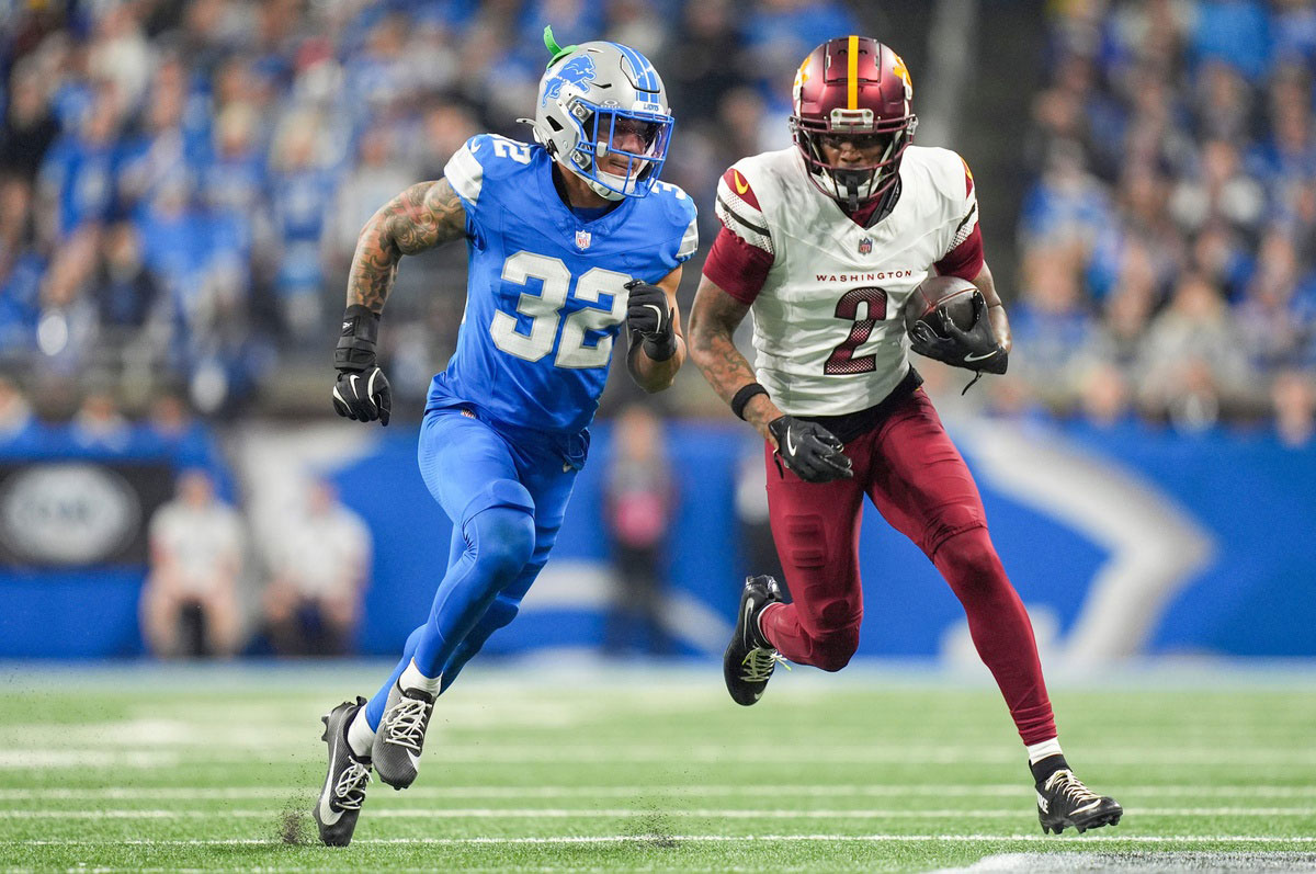
<instances>
[{"instance_id":1,"label":"white yard line level with the sole of player 2's planted shoe","mask_svg":"<svg viewBox=\"0 0 1316 874\"><path fill-rule=\"evenodd\" d=\"M112 820L112 819L259 819L274 815L266 810L101 810L101 811L4 811L4 819ZM1133 807L1128 816L1316 816L1316 807ZM563 807L424 807L376 808L371 819L630 819L630 817L696 817L696 819L948 819L1020 816L1011 808L942 808L942 810L745 810L745 808L563 808Z\"/></svg>"}]
</instances>

